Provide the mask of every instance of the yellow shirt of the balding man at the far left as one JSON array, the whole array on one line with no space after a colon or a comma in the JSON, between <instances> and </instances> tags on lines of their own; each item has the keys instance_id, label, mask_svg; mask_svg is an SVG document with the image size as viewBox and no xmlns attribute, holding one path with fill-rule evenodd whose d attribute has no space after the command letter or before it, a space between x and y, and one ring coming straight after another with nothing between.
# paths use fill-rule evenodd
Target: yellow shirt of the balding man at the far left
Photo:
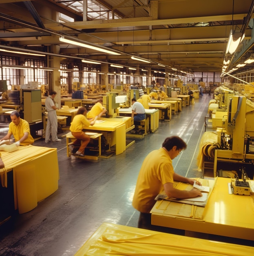
<instances>
[{"instance_id":1,"label":"yellow shirt of the balding man at the far left","mask_svg":"<svg viewBox=\"0 0 254 256\"><path fill-rule=\"evenodd\" d=\"M30 134L30 126L26 120L20 118L20 123L17 126L13 122L11 122L9 124L8 133L13 135L13 137L15 138L15 141L20 140L24 136L25 132L28 132L28 137L27 137L27 139L22 141L20 143L20 145L26 146L26 145L33 144L34 139L33 139L32 135Z\"/></svg>"}]
</instances>

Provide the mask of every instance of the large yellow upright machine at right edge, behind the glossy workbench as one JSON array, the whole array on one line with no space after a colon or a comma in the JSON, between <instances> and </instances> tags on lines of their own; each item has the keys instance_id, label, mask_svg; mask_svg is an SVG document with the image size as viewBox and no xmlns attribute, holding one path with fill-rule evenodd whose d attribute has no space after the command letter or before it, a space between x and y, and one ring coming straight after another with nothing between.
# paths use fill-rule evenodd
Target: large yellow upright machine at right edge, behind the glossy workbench
<instances>
[{"instance_id":1,"label":"large yellow upright machine at right edge, behind the glossy workbench","mask_svg":"<svg viewBox=\"0 0 254 256\"><path fill-rule=\"evenodd\" d=\"M219 148L214 155L214 173L236 171L242 167L254 175L254 103L244 96L228 99L227 115L217 128ZM239 173L241 175L241 173Z\"/></svg>"}]
</instances>

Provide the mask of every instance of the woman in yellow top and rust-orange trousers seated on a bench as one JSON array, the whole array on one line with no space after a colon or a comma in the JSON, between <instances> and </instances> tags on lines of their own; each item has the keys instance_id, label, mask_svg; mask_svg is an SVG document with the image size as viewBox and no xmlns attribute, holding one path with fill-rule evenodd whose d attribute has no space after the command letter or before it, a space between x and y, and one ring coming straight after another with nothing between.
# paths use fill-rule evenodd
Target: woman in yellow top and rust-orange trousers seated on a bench
<instances>
[{"instance_id":1,"label":"woman in yellow top and rust-orange trousers seated on a bench","mask_svg":"<svg viewBox=\"0 0 254 256\"><path fill-rule=\"evenodd\" d=\"M81 144L80 148L77 150L76 155L84 156L84 150L90 141L90 137L83 132L83 129L88 128L88 126L93 126L95 121L88 121L85 117L87 113L86 108L79 108L77 114L71 122L70 131L71 134L76 138L74 144ZM82 141L82 143L81 143Z\"/></svg>"}]
</instances>

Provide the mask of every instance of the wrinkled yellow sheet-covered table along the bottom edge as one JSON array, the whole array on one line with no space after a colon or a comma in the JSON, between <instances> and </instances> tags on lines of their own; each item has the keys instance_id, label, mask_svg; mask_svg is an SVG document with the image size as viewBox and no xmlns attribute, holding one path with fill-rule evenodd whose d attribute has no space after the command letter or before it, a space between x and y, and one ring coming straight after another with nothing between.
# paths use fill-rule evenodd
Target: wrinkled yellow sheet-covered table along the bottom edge
<instances>
[{"instance_id":1,"label":"wrinkled yellow sheet-covered table along the bottom edge","mask_svg":"<svg viewBox=\"0 0 254 256\"><path fill-rule=\"evenodd\" d=\"M252 256L253 247L103 223L75 256Z\"/></svg>"}]
</instances>

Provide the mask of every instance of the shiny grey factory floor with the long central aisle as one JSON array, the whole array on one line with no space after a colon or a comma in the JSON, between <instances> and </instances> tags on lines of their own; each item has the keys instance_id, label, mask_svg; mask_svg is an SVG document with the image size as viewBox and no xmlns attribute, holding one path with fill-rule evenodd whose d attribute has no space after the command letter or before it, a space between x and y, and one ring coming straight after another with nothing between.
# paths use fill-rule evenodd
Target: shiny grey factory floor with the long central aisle
<instances>
[{"instance_id":1,"label":"shiny grey factory floor with the long central aisle","mask_svg":"<svg viewBox=\"0 0 254 256\"><path fill-rule=\"evenodd\" d=\"M65 138L48 144L35 141L35 146L57 148L59 189L32 211L0 226L0 255L73 256L103 222L137 227L139 213L131 204L137 175L146 155L161 147L166 137L178 135L188 144L173 160L175 171L202 177L196 159L210 99L208 95L196 99L171 121L160 121L155 133L136 139L124 153L109 159L66 157ZM0 136L7 130L0 129ZM244 244L232 238L227 242Z\"/></svg>"}]
</instances>

